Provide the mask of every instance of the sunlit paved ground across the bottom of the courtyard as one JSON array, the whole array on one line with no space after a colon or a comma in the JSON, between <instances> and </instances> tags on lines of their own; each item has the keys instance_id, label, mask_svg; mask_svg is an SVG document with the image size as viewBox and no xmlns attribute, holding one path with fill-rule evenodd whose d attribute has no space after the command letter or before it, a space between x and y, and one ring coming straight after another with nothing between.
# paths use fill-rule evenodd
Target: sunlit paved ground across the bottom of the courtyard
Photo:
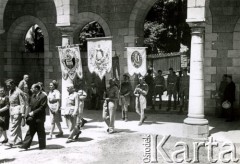
<instances>
[{"instance_id":1,"label":"sunlit paved ground across the bottom of the courtyard","mask_svg":"<svg viewBox=\"0 0 240 164\"><path fill-rule=\"evenodd\" d=\"M117 112L115 125L117 132L111 135L106 132L100 111L85 111L85 117L89 122L82 129L82 134L77 142L65 143L68 130L63 122L64 137L47 140L46 150L38 150L36 136L28 151L22 151L18 148L7 149L4 145L0 146L0 163L140 164L143 163L143 137L148 134L158 134L159 140L163 135L171 135L170 143L166 143L166 150L174 148L174 143L177 141L185 141L190 145L194 141L182 138L182 122L186 118L185 115L148 114L146 123L138 126L136 113L130 112L130 121L123 122L120 112ZM239 155L240 121L225 123L223 119L213 117L209 117L208 120L210 133L214 140L236 143ZM49 125L48 117L45 124L47 132L50 130ZM26 130L27 127L24 127L24 136ZM55 131L57 132L57 129ZM206 152L202 152L201 156L204 156L205 159L200 163L208 163ZM161 157L158 159L158 163L166 163Z\"/></svg>"}]
</instances>

